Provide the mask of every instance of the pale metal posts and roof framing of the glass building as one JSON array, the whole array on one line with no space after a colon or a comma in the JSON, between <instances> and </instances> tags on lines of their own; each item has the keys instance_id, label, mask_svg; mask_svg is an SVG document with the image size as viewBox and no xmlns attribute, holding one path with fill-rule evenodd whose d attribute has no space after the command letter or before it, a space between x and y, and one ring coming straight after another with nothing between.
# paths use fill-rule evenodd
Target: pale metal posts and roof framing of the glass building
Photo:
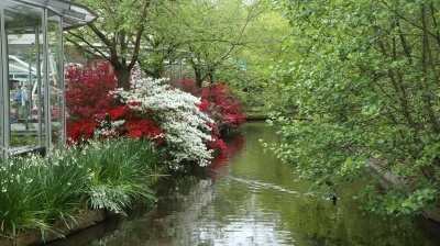
<instances>
[{"instance_id":1,"label":"pale metal posts and roof framing of the glass building","mask_svg":"<svg viewBox=\"0 0 440 246\"><path fill-rule=\"evenodd\" d=\"M9 4L9 8L7 5ZM15 5L14 3L18 3L16 9L11 8ZM29 33L34 33L35 34L35 43L43 44L43 54L42 54L42 65L43 68L40 71L40 66L37 66L38 70L37 72L42 74L43 77L41 77L41 81L38 81L40 85L42 85L45 90L44 90L44 131L45 131L45 141L44 143L42 139L42 125L38 124L38 146L40 147L45 147L46 150L51 149L54 145L52 143L52 131L51 131L51 125L52 125L52 119L51 119L51 93L50 93L50 66L48 66L48 53L50 53L50 34L48 34L48 21L52 20L52 16L56 15L56 22L57 29L55 32L59 32L59 41L57 40L57 45L61 45L61 53L64 54L64 43L63 43L63 31L68 30L68 29L74 29L77 26L86 25L87 23L95 21L97 19L97 14L95 14L90 9L87 7L84 7L81 4L70 2L70 1L65 1L65 0L0 0L0 59L1 60L9 60L8 58L8 35L7 35L7 24L10 22L10 20L14 20L15 13L18 16L25 15L26 12L29 14L32 14L33 9L40 9L43 10L42 13L38 11L35 11L41 16L42 23L37 23L36 26L30 26L32 29L25 30L24 26L20 26L19 24L16 25L18 30L26 31ZM8 11L8 14L6 12ZM7 16L8 15L8 16ZM9 21L8 21L8 20ZM38 18L35 19L37 22ZM26 23L24 23L26 24ZM11 25L12 26L12 25ZM33 31L31 31L33 30ZM42 31L42 33L40 33ZM38 35L42 34L42 38L40 38ZM38 54L41 51L37 51ZM58 60L58 63L63 63L62 60ZM59 68L59 89L62 89L63 94L62 96L53 96L53 97L59 97L57 100L57 103L61 109L61 120L59 123L62 124L62 130L63 132L59 132L59 137L58 141L62 143L65 143L66 141L66 119L65 119L65 110L66 110L66 103L65 103L65 94L64 94L64 88L65 88L65 80L64 80L64 64L57 66ZM0 96L2 99L9 99L10 97L10 83L9 83L9 63L1 63L0 65ZM40 76L38 76L40 78ZM38 88L40 90L40 88ZM41 102L38 102L41 103ZM3 159L8 158L9 155L9 149L11 147L11 120L10 120L10 101L9 100L1 100L1 107L0 107L0 124L1 124L1 157ZM41 119L41 118L38 118ZM38 120L40 123L41 120ZM59 147L63 148L64 145L62 143L59 144Z\"/></svg>"}]
</instances>

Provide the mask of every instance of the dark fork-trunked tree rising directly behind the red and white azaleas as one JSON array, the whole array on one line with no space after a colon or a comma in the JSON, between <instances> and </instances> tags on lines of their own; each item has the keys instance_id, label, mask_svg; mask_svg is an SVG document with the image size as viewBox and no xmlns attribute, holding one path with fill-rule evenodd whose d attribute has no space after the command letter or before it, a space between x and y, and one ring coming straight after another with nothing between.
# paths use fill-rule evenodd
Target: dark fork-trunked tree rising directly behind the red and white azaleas
<instances>
[{"instance_id":1,"label":"dark fork-trunked tree rising directly behind the red and white azaleas","mask_svg":"<svg viewBox=\"0 0 440 246\"><path fill-rule=\"evenodd\" d=\"M82 29L67 31L66 40L86 54L108 60L118 77L118 86L130 88L130 71L141 52L151 0L80 0L98 20Z\"/></svg>"}]
</instances>

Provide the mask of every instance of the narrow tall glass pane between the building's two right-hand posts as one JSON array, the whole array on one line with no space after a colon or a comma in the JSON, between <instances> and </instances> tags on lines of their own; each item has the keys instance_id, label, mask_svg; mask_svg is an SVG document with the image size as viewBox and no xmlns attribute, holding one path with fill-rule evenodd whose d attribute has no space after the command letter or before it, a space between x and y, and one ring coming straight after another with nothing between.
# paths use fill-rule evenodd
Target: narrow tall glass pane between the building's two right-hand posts
<instances>
[{"instance_id":1,"label":"narrow tall glass pane between the building's two right-hand posts","mask_svg":"<svg viewBox=\"0 0 440 246\"><path fill-rule=\"evenodd\" d=\"M59 147L64 145L64 55L62 37L61 16L54 15L47 21L48 35L48 72L50 72L50 98L51 98L51 127L52 145Z\"/></svg>"}]
</instances>

